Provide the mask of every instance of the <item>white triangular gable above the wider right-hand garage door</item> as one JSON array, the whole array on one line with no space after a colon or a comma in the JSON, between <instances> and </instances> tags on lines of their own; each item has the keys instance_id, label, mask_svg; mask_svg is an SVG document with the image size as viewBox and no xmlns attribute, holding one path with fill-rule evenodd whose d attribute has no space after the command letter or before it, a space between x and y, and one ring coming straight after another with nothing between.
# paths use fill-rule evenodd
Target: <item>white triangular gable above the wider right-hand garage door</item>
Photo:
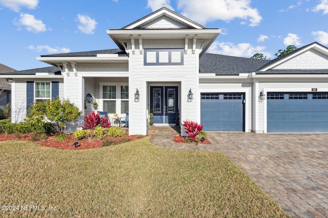
<instances>
[{"instance_id":1,"label":"white triangular gable above the wider right-hand garage door","mask_svg":"<svg viewBox=\"0 0 328 218\"><path fill-rule=\"evenodd\" d=\"M258 71L268 70L320 70L328 69L328 48L313 42L300 47L262 66Z\"/></svg>"}]
</instances>

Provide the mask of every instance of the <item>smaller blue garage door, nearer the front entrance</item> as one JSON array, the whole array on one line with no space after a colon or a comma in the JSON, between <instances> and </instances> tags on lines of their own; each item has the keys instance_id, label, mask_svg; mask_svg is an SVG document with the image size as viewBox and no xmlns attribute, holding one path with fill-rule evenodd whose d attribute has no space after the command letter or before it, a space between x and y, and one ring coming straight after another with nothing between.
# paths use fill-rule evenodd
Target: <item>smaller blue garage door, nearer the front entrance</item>
<instances>
[{"instance_id":1,"label":"smaller blue garage door, nearer the front entrance","mask_svg":"<svg viewBox=\"0 0 328 218\"><path fill-rule=\"evenodd\" d=\"M243 93L202 93L200 111L204 131L244 131Z\"/></svg>"}]
</instances>

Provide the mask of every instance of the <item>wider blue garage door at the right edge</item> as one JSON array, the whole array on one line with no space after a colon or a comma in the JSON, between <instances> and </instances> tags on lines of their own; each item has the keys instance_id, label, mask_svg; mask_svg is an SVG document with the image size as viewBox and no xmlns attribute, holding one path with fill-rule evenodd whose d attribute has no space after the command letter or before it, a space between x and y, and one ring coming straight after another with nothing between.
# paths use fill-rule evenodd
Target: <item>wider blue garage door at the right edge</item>
<instances>
[{"instance_id":1,"label":"wider blue garage door at the right edge","mask_svg":"<svg viewBox=\"0 0 328 218\"><path fill-rule=\"evenodd\" d=\"M328 132L328 93L267 94L268 132Z\"/></svg>"}]
</instances>

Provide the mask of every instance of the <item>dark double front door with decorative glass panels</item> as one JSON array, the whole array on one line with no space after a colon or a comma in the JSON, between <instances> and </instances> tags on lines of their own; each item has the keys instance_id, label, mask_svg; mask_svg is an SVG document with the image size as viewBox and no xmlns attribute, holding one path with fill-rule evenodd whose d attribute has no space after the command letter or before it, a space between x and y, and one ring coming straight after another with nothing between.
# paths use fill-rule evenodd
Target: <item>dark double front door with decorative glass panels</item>
<instances>
[{"instance_id":1,"label":"dark double front door with decorative glass panels","mask_svg":"<svg viewBox=\"0 0 328 218\"><path fill-rule=\"evenodd\" d=\"M150 96L150 109L154 114L154 124L175 124L178 87L151 86Z\"/></svg>"}]
</instances>

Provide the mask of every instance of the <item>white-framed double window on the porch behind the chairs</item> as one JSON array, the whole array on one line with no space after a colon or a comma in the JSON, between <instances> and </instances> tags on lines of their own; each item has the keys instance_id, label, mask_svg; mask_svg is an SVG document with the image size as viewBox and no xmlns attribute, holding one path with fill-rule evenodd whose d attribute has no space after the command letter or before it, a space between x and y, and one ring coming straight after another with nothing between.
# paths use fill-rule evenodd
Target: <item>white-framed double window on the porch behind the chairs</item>
<instances>
[{"instance_id":1,"label":"white-framed double window on the porch behind the chairs","mask_svg":"<svg viewBox=\"0 0 328 218\"><path fill-rule=\"evenodd\" d=\"M98 110L107 111L110 116L118 113L123 116L129 111L129 86L120 83L99 83L100 107Z\"/></svg>"}]
</instances>

